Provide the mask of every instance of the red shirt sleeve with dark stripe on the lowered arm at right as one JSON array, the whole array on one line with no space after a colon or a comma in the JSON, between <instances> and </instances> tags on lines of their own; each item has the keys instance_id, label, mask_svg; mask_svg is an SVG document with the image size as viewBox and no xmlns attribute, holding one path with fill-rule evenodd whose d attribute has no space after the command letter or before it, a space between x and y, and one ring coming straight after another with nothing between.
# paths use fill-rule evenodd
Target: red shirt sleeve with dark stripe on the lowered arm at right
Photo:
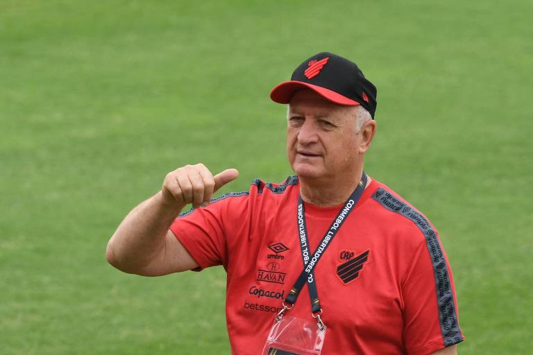
<instances>
[{"instance_id":1,"label":"red shirt sleeve with dark stripe on the lowered arm at right","mask_svg":"<svg viewBox=\"0 0 533 355\"><path fill-rule=\"evenodd\" d=\"M448 259L434 229L423 233L403 284L407 354L425 355L464 340Z\"/></svg>"}]
</instances>

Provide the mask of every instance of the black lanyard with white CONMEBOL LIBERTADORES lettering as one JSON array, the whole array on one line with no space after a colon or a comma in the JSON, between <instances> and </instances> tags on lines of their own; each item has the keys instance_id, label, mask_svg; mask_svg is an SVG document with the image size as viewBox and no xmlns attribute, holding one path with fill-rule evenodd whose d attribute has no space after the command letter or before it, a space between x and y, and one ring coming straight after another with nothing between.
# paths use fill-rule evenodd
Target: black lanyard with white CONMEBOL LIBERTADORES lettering
<instances>
[{"instance_id":1,"label":"black lanyard with white CONMEBOL LIBERTADORES lettering","mask_svg":"<svg viewBox=\"0 0 533 355\"><path fill-rule=\"evenodd\" d=\"M296 280L294 286L292 286L289 295L285 299L285 302L292 306L300 292L302 291L305 282L307 282L307 287L309 289L309 296L311 298L311 309L312 313L319 313L321 311L319 294L316 291L316 280L314 278L314 268L316 264L319 263L320 258L325 252L326 248L330 245L333 237L339 232L341 225L344 223L344 220L348 218L348 215L353 211L353 207L357 205L357 201L361 198L364 188L366 187L366 174L363 171L361 180L357 184L357 187L350 195L348 200L344 202L344 206L337 214L337 217L331 223L328 232L322 238L318 248L314 251L313 254L309 253L309 238L307 237L307 225L305 223L305 207L303 205L302 196L298 196L298 210L296 214L296 220L298 221L298 239L300 240L300 248L302 252L302 261L303 261L303 270Z\"/></svg>"}]
</instances>

